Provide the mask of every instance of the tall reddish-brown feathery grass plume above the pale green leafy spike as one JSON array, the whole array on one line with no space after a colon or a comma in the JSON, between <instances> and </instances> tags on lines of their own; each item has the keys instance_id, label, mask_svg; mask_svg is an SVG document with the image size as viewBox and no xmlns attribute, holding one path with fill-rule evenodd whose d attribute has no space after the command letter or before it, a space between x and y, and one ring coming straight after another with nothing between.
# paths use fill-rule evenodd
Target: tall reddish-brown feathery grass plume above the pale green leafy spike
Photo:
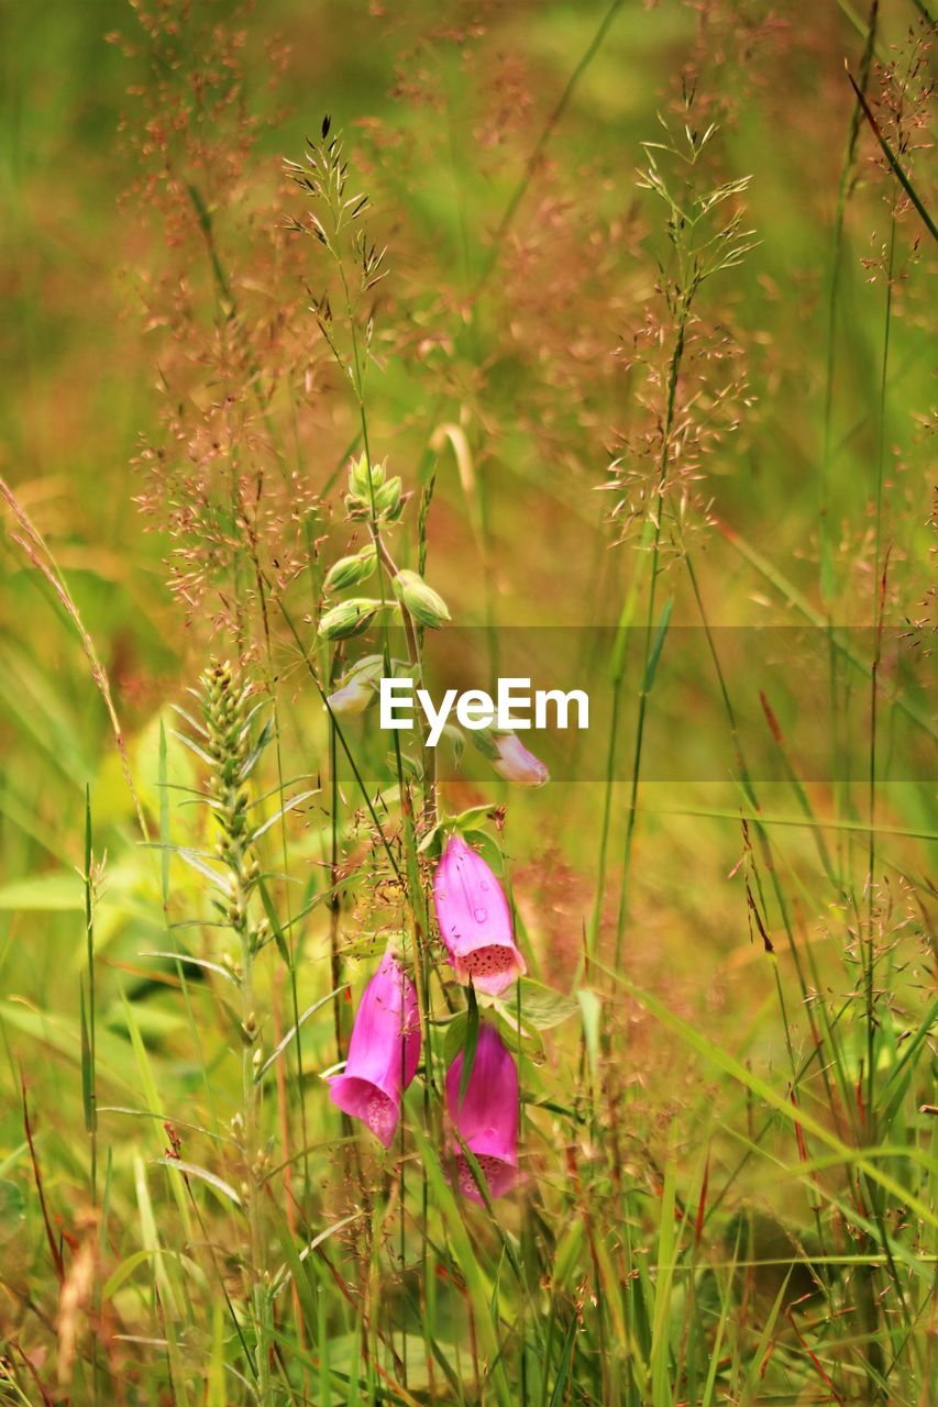
<instances>
[{"instance_id":1,"label":"tall reddish-brown feathery grass plume above the pale green leafy spike","mask_svg":"<svg viewBox=\"0 0 938 1407\"><path fill-rule=\"evenodd\" d=\"M151 79L123 124L138 172L125 207L148 241L149 265L131 277L163 398L162 435L137 457L138 504L190 618L208 615L246 658L265 653L265 611L307 568L321 521L287 452L317 349L277 214L283 177L258 153L262 122L245 100L251 6L134 8L139 30L117 38ZM273 82L284 53L270 53Z\"/></svg>"}]
</instances>

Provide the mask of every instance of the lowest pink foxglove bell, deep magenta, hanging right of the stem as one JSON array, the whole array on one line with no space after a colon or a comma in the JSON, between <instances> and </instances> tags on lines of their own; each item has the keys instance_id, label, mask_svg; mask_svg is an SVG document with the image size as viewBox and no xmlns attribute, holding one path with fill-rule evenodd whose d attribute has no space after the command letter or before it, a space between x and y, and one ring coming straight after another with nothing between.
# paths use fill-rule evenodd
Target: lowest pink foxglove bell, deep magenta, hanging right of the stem
<instances>
[{"instance_id":1,"label":"lowest pink foxglove bell, deep magenta, hanging right of the stem","mask_svg":"<svg viewBox=\"0 0 938 1407\"><path fill-rule=\"evenodd\" d=\"M518 1071L494 1026L479 1027L476 1058L462 1102L461 1083L462 1051L446 1072L446 1109L479 1164L490 1196L501 1197L518 1180ZM459 1190L484 1204L469 1161L455 1140L452 1151Z\"/></svg>"}]
</instances>

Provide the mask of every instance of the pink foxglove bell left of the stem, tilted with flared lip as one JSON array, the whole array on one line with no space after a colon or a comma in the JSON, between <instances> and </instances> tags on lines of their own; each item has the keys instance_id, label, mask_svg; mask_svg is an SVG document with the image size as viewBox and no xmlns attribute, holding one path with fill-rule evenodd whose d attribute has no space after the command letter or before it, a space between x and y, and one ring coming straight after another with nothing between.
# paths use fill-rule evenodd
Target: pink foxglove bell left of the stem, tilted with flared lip
<instances>
[{"instance_id":1,"label":"pink foxglove bell left of the stem, tilted with flared lip","mask_svg":"<svg viewBox=\"0 0 938 1407\"><path fill-rule=\"evenodd\" d=\"M330 1079L330 1097L390 1148L401 1095L418 1059L417 992L397 958L386 953L362 995L345 1071Z\"/></svg>"}]
</instances>

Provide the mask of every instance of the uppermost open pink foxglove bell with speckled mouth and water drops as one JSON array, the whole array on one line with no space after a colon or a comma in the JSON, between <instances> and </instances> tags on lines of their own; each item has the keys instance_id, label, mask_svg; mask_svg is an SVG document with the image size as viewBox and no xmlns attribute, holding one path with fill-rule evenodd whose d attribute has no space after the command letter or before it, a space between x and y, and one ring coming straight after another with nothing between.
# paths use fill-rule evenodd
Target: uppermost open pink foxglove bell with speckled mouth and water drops
<instances>
[{"instance_id":1,"label":"uppermost open pink foxglove bell with speckled mouth and water drops","mask_svg":"<svg viewBox=\"0 0 938 1407\"><path fill-rule=\"evenodd\" d=\"M462 836L451 836L434 875L434 905L456 981L497 996L527 972L514 946L501 885Z\"/></svg>"}]
</instances>

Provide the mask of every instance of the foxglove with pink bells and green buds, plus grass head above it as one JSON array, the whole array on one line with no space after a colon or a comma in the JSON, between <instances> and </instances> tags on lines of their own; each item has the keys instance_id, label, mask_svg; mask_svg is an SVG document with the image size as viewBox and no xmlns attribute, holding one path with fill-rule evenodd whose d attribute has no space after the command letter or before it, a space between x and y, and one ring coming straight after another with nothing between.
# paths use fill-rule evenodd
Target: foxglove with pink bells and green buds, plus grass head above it
<instances>
[{"instance_id":1,"label":"foxglove with pink bells and green buds, plus grass head above it","mask_svg":"<svg viewBox=\"0 0 938 1407\"><path fill-rule=\"evenodd\" d=\"M311 234L334 266L334 297L327 287L317 298L314 311L325 342L351 381L362 428L362 450L349 463L344 497L354 536L348 554L325 574L328 606L317 619L320 642L324 646L338 646L331 657L332 670L325 671L328 688L325 678L317 678L317 687L328 706L332 746L339 739L345 747L339 720L365 713L376 698L379 680L389 674L421 682L424 633L442 629L451 616L446 602L424 578L432 478L424 485L417 514L418 570L396 560L399 549L393 545L393 536L410 495L404 492L401 478L389 474L386 461L375 461L372 457L373 438L369 435L365 400L373 335L370 312L365 315L365 305L370 304L370 290L384 276L383 250L373 246L365 234L362 218L368 200L352 194L352 187L348 186L348 166L328 120L323 124L321 138L310 142L306 162L301 166L289 163L287 172L310 198L307 217L296 221L294 228ZM362 526L369 542L354 550L355 535ZM372 594L362 595L363 590ZM392 656L392 625L403 629L406 661ZM334 668L345 654L344 643L363 635L373 639L373 633L380 642L380 653L366 654L352 663L337 680ZM414 741L417 756L406 756L397 746L392 757L400 796L401 851L407 861L403 870L399 868L394 850L373 812L372 819L411 913L413 976L417 991L399 958L386 955L356 1013L345 1069L330 1081L332 1102L359 1119L386 1148L392 1147L400 1123L401 1095L417 1069L420 1031L427 1040L432 1026L428 965L432 950L420 857L430 844L437 843L442 827L437 810L434 749L423 723L418 723ZM544 764L513 734L493 734L484 740L475 734L473 741L477 741L490 765L515 785L539 787L548 781ZM361 778L358 779L361 785ZM420 803L415 803L414 785L423 789ZM368 795L365 799L370 809ZM456 979L463 985L472 983L479 993L497 998L525 974L524 958L514 941L511 909L499 879L456 833L445 846L432 888L439 930ZM418 1010L423 1023L420 1030ZM477 1047L473 1057L466 1057L476 1062L472 1071L466 1071L466 1089L461 1090L462 1058L454 1067L458 1069L455 1090L451 1071L446 1081L448 1102L454 1127L463 1138L465 1148L482 1159L493 1195L500 1196L517 1180L518 1075L494 1027L482 1031ZM428 1040L427 1067L425 1109L430 1109L435 1082ZM461 1092L465 1106L458 1099ZM476 1200L482 1200L475 1190L472 1164L462 1145L454 1151L458 1154L461 1186Z\"/></svg>"}]
</instances>

